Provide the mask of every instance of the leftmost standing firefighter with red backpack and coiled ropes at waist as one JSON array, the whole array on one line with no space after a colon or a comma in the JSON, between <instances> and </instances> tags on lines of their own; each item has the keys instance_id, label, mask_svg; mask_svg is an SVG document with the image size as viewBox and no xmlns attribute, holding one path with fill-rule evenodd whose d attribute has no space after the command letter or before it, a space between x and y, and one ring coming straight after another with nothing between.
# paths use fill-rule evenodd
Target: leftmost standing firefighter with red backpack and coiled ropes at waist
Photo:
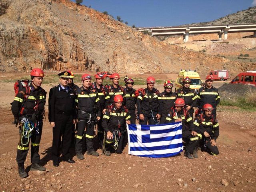
<instances>
[{"instance_id":1,"label":"leftmost standing firefighter with red backpack and coiled ropes at waist","mask_svg":"<svg viewBox=\"0 0 256 192\"><path fill-rule=\"evenodd\" d=\"M41 88L44 72L34 68L30 72L31 84L23 86L12 103L12 114L15 123L19 123L20 140L18 143L17 157L18 172L21 178L28 174L24 169L24 162L28 154L28 146L31 140L31 163L30 170L44 171L46 168L39 165L39 144L43 128L44 105L46 92Z\"/></svg>"}]
</instances>

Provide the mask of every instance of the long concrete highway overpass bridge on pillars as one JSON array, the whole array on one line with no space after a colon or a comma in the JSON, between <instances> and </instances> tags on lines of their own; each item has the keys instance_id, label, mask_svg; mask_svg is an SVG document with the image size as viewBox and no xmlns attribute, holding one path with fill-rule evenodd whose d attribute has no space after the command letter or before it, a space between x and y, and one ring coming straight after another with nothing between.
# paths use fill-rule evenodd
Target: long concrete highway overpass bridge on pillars
<instances>
[{"instance_id":1,"label":"long concrete highway overpass bridge on pillars","mask_svg":"<svg viewBox=\"0 0 256 192\"><path fill-rule=\"evenodd\" d=\"M228 39L228 33L254 32L256 37L256 24L240 24L240 25L212 25L212 26L182 26L182 27L152 27L137 28L141 32L147 32L152 36L171 36L182 35L183 41L188 42L189 34L210 34L217 33L219 39Z\"/></svg>"}]
</instances>

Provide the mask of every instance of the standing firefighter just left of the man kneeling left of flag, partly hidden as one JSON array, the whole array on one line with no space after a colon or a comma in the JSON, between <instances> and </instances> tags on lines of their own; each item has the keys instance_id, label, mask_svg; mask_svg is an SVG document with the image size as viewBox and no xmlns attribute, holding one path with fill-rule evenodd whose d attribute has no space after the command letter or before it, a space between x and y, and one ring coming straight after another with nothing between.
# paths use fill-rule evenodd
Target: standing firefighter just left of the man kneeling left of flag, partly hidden
<instances>
[{"instance_id":1,"label":"standing firefighter just left of the man kneeling left of flag, partly hidden","mask_svg":"<svg viewBox=\"0 0 256 192\"><path fill-rule=\"evenodd\" d=\"M100 108L103 110L105 108L105 98L107 93L107 88L103 86L103 80L104 77L102 74L96 74L95 75L96 81L92 84L92 88L96 89L98 92L98 96L100 98ZM102 115L100 115L100 120L97 121L97 127L98 127L98 143L99 148L102 149L103 146L103 138L104 138L104 129L101 126L102 123Z\"/></svg>"}]
</instances>

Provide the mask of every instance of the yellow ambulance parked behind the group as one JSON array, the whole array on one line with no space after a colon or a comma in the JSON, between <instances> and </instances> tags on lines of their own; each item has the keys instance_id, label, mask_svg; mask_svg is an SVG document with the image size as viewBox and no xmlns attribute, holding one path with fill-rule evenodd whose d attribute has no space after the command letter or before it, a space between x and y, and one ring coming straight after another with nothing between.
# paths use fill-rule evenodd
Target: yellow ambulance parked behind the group
<instances>
[{"instance_id":1,"label":"yellow ambulance parked behind the group","mask_svg":"<svg viewBox=\"0 0 256 192\"><path fill-rule=\"evenodd\" d=\"M175 88L179 89L182 87L182 79L189 77L191 79L190 89L198 90L201 87L202 80L196 70L180 70L178 77L175 82Z\"/></svg>"}]
</instances>

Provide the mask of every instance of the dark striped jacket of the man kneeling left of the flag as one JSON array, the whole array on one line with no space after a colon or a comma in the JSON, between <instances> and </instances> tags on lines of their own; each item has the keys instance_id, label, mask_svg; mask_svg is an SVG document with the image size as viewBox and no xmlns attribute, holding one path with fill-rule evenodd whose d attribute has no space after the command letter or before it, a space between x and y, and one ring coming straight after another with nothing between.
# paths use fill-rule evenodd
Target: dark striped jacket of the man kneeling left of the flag
<instances>
[{"instance_id":1,"label":"dark striped jacket of the man kneeling left of the flag","mask_svg":"<svg viewBox=\"0 0 256 192\"><path fill-rule=\"evenodd\" d=\"M130 120L131 116L126 108L123 106L120 110L116 110L113 106L108 109L102 118L102 127L105 132L118 130L118 121L120 121L120 130L126 130L126 120Z\"/></svg>"}]
</instances>

